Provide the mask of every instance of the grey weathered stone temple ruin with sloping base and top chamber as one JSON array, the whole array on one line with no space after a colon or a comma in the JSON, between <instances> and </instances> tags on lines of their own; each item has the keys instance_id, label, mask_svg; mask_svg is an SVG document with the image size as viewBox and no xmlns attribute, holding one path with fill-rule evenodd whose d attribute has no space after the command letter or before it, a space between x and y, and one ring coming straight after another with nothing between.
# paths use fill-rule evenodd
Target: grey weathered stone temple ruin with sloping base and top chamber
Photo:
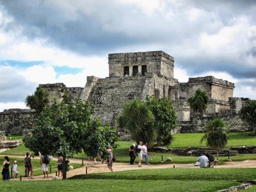
<instances>
[{"instance_id":1,"label":"grey weathered stone temple ruin with sloping base and top chamber","mask_svg":"<svg viewBox=\"0 0 256 192\"><path fill-rule=\"evenodd\" d=\"M49 93L50 100L61 100L65 91L72 99L88 100L95 106L93 117L112 127L116 126L116 116L125 102L154 95L172 100L178 118L176 132L202 132L213 116L224 118L230 131L248 131L249 125L239 117L239 110L246 99L233 97L234 83L212 76L189 78L187 83L179 83L173 77L174 58L163 51L109 54L108 59L109 77L88 76L84 88L68 88L63 83L40 86ZM204 115L194 114L188 104L188 98L194 95L197 88L207 92L210 99ZM9 126L17 124L17 119L10 118L13 113L8 110L0 113L0 130L17 132L15 127ZM29 121L31 127L26 123L26 127L19 128L20 132L23 128L33 128L34 123L31 125ZM126 134L124 130L118 130L118 133L121 138Z\"/></svg>"}]
</instances>

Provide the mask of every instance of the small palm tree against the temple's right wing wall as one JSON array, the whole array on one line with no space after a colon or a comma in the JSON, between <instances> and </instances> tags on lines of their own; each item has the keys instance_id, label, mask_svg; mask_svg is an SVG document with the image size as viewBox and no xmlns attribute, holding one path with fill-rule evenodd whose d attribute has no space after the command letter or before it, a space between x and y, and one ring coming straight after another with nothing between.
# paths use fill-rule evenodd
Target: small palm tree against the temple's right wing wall
<instances>
[{"instance_id":1,"label":"small palm tree against the temple's right wing wall","mask_svg":"<svg viewBox=\"0 0 256 192\"><path fill-rule=\"evenodd\" d=\"M188 102L195 113L204 113L209 102L209 97L206 92L198 88L195 95L188 99Z\"/></svg>"}]
</instances>

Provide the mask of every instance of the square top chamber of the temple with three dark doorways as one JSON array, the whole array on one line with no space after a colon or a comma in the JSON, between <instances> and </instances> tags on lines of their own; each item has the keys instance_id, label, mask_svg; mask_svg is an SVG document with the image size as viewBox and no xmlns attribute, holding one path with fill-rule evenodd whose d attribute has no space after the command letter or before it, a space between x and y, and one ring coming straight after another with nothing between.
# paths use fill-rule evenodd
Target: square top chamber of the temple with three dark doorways
<instances>
[{"instance_id":1,"label":"square top chamber of the temple with three dark doorways","mask_svg":"<svg viewBox=\"0 0 256 192\"><path fill-rule=\"evenodd\" d=\"M173 78L174 58L163 51L115 53L108 59L109 77L123 77L125 66L129 67L129 76L133 75L133 66L138 66L141 74L141 65L147 65L147 72Z\"/></svg>"}]
</instances>

